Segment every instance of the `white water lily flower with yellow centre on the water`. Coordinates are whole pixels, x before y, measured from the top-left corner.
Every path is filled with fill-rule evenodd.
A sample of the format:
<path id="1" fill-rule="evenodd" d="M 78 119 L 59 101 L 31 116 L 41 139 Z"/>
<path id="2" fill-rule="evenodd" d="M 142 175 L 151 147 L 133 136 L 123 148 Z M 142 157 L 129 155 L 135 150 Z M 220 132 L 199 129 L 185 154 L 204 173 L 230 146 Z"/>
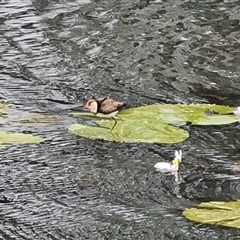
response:
<path id="1" fill-rule="evenodd" d="M 175 151 L 175 158 L 172 160 L 171 163 L 167 162 L 158 162 L 154 165 L 157 171 L 162 173 L 171 172 L 176 173 L 178 171 L 179 164 L 182 161 L 182 151 Z"/>

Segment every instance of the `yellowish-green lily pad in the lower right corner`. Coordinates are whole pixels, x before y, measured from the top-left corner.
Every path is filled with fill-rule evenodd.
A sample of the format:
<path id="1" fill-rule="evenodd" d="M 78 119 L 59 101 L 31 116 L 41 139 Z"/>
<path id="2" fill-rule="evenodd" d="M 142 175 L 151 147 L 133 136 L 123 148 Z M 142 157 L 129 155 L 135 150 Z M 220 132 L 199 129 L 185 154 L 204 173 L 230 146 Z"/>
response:
<path id="1" fill-rule="evenodd" d="M 240 228 L 240 201 L 200 203 L 183 215 L 195 222 Z"/>

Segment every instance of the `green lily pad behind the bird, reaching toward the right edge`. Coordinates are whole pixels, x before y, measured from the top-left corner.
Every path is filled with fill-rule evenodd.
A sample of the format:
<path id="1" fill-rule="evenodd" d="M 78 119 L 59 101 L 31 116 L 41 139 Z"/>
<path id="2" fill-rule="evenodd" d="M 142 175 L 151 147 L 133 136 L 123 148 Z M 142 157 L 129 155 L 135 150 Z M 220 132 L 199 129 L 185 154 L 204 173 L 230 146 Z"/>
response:
<path id="1" fill-rule="evenodd" d="M 218 114 L 206 114 L 213 111 Z M 119 113 L 125 120 L 146 121 L 158 120 L 164 124 L 184 125 L 187 121 L 193 125 L 220 125 L 240 121 L 240 117 L 226 115 L 234 111 L 233 107 L 215 104 L 155 104 L 136 108 L 129 108 Z M 89 112 L 74 114 L 76 117 L 97 119 Z M 98 118 L 99 119 L 99 118 Z"/>

